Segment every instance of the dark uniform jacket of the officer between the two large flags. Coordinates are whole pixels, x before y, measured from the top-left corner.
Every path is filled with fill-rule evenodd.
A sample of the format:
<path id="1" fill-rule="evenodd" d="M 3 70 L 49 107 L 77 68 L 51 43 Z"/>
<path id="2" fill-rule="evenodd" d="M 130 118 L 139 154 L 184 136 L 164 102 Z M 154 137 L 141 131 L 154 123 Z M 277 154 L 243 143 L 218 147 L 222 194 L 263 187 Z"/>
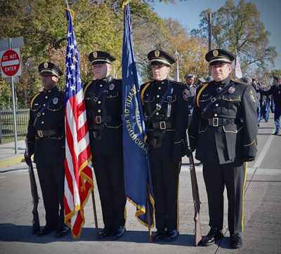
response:
<path id="1" fill-rule="evenodd" d="M 100 90 L 110 86 L 95 102 Z M 87 121 L 93 156 L 108 156 L 122 150 L 122 80 L 96 79 L 84 84 Z M 94 131 L 100 136 L 94 137 Z"/>

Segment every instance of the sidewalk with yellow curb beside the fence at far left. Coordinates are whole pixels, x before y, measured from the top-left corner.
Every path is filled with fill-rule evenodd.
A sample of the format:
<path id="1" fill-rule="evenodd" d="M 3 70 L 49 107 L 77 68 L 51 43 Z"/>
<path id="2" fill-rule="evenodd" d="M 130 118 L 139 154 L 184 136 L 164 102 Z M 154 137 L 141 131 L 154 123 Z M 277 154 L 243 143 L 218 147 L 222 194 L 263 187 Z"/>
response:
<path id="1" fill-rule="evenodd" d="M 15 142 L 0 145 L 0 168 L 11 166 L 24 160 L 25 140 L 17 142 L 18 151 L 15 154 Z"/>

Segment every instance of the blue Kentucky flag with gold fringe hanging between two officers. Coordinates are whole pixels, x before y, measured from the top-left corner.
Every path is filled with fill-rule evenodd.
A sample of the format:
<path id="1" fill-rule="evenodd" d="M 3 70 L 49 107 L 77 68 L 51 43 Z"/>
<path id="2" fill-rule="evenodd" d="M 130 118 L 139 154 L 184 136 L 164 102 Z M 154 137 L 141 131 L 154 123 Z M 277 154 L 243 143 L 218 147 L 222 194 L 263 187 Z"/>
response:
<path id="1" fill-rule="evenodd" d="M 145 226 L 148 226 L 150 222 L 153 227 L 154 195 L 148 146 L 145 143 L 147 136 L 141 108 L 136 62 L 133 56 L 133 31 L 129 1 L 123 4 L 123 10 L 122 89 L 125 192 L 127 199 L 136 206 L 138 221 Z"/>

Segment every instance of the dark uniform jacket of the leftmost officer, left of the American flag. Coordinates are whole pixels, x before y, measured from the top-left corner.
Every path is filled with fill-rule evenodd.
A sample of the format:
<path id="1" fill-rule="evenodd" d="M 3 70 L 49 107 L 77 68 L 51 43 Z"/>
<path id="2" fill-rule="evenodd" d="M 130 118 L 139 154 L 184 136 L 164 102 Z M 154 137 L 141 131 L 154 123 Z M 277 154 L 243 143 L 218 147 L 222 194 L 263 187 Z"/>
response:
<path id="1" fill-rule="evenodd" d="M 51 103 L 41 112 L 46 103 Z M 41 115 L 37 115 L 41 112 Z M 27 144 L 34 162 L 55 166 L 65 160 L 65 92 L 55 86 L 37 93 L 30 103 Z"/>

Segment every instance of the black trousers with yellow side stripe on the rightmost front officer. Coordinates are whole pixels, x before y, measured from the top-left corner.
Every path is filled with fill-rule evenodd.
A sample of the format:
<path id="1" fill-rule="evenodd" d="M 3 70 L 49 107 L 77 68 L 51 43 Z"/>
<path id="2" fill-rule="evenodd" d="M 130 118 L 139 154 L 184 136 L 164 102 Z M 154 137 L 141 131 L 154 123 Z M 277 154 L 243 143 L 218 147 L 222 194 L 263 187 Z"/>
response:
<path id="1" fill-rule="evenodd" d="M 226 186 L 229 231 L 233 234 L 243 232 L 246 163 L 204 163 L 203 176 L 208 196 L 209 226 L 223 229 L 223 191 Z"/>

